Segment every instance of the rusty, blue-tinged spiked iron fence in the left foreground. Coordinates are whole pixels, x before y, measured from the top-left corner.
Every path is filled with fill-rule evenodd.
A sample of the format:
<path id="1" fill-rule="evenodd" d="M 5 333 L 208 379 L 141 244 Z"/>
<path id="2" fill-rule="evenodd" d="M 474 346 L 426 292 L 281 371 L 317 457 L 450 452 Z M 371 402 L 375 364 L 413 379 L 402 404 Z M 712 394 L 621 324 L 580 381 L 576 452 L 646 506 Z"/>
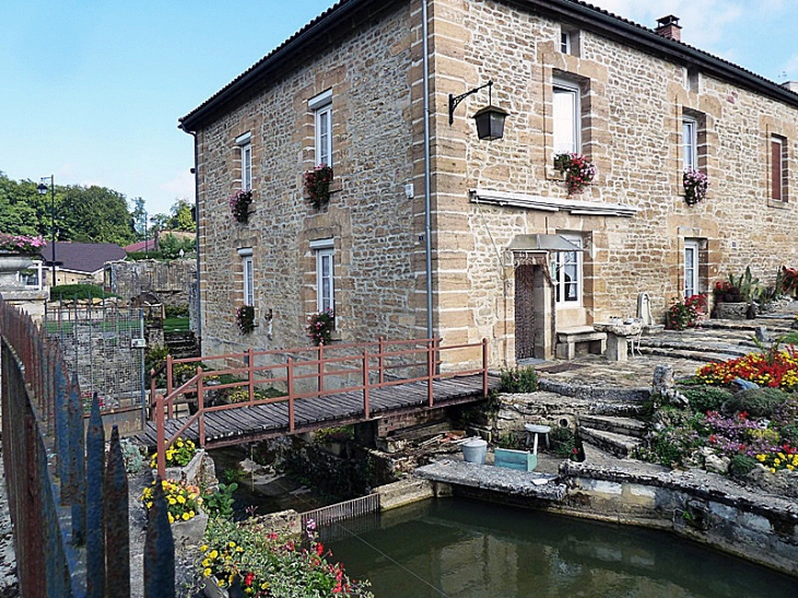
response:
<path id="1" fill-rule="evenodd" d="M 115 427 L 99 404 L 84 436 L 75 375 L 57 340 L 0 300 L 2 454 L 20 590 L 30 597 L 130 596 L 128 485 Z M 144 596 L 173 597 L 174 542 L 156 485 L 144 553 Z"/>

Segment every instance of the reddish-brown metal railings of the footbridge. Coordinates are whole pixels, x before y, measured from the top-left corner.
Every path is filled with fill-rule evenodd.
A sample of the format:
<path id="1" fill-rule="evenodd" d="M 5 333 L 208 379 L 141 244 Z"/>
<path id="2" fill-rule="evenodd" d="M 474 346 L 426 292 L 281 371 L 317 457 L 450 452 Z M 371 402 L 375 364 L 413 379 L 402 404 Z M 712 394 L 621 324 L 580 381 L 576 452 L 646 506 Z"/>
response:
<path id="1" fill-rule="evenodd" d="M 372 342 L 335 345 L 304 347 L 287 350 L 226 353 L 180 360 L 166 359 L 166 395 L 151 389 L 151 413 L 156 422 L 157 469 L 165 474 L 166 449 L 187 430 L 197 425 L 199 445 L 206 444 L 204 415 L 214 411 L 230 411 L 259 404 L 287 403 L 285 427 L 294 432 L 296 427 L 295 403 L 297 400 L 326 397 L 343 392 L 361 392 L 363 397 L 363 419 L 371 419 L 371 392 L 399 384 L 426 383 L 427 406 L 434 407 L 435 380 L 479 374 L 482 377 L 482 395 L 488 396 L 488 340 L 477 343 L 443 345 L 442 339 L 413 339 L 388 341 L 378 339 Z M 460 360 L 463 366 L 441 371 L 442 355 L 445 352 L 469 355 Z M 474 359 L 476 356 L 476 359 Z M 258 361 L 269 360 L 270 363 Z M 455 360 L 451 360 L 453 362 Z M 224 367 L 230 363 L 243 364 Z M 175 366 L 197 364 L 192 376 L 175 387 Z M 223 367 L 212 367 L 213 365 Z M 210 365 L 211 367 L 206 367 Z M 404 375 L 402 375 L 404 371 Z M 234 382 L 209 386 L 209 378 L 238 378 Z M 216 382 L 216 380 L 214 380 Z M 258 386 L 281 388 L 283 395 L 259 398 Z M 226 388 L 246 388 L 246 401 L 232 404 L 206 406 L 204 394 Z M 165 420 L 172 419 L 177 402 L 195 402 L 188 396 L 196 396 L 197 411 L 183 425 L 166 437 Z"/>

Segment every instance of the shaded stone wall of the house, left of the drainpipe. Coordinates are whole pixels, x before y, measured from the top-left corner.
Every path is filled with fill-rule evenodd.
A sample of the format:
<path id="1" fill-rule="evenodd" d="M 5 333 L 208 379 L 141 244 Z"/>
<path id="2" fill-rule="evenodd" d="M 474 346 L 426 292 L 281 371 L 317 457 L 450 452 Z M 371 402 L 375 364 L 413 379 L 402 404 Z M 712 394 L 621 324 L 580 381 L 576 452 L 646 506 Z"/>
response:
<path id="1" fill-rule="evenodd" d="M 294 61 L 262 92 L 199 131 L 204 353 L 307 344 L 306 317 L 317 312 L 310 243 L 325 238 L 333 239 L 338 338 L 416 336 L 416 254 L 423 246 L 414 215 L 423 198 L 408 199 L 404 185 L 413 180 L 416 151 L 411 44 L 418 17 L 399 4 Z M 315 165 L 308 99 L 327 90 L 333 194 L 327 207 L 315 210 L 303 189 L 303 174 Z M 254 201 L 248 223 L 240 224 L 231 218 L 227 196 L 240 187 L 235 139 L 246 132 Z M 259 313 L 248 337 L 234 320 L 244 301 L 242 248 L 253 249 Z"/>

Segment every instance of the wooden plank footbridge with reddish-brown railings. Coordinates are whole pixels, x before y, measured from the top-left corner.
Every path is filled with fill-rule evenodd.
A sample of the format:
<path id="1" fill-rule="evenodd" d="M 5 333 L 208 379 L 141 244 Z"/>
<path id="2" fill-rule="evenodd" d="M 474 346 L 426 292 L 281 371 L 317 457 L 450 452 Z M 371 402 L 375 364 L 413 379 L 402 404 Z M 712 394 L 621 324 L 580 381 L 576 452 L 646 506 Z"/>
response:
<path id="1" fill-rule="evenodd" d="M 446 363 L 463 364 L 442 372 Z M 188 379 L 174 386 L 177 373 Z M 232 382 L 231 382 L 232 380 Z M 443 347 L 441 339 L 319 345 L 166 360 L 166 394 L 153 377 L 151 421 L 133 438 L 159 453 L 178 436 L 206 448 L 479 401 L 498 387 L 488 372 L 488 341 Z M 239 402 L 211 395 L 232 389 Z M 227 396 L 231 394 L 227 392 Z M 275 396 L 277 395 L 277 396 Z M 201 400 L 198 400 L 201 398 Z M 177 417 L 177 407 L 196 406 Z"/>

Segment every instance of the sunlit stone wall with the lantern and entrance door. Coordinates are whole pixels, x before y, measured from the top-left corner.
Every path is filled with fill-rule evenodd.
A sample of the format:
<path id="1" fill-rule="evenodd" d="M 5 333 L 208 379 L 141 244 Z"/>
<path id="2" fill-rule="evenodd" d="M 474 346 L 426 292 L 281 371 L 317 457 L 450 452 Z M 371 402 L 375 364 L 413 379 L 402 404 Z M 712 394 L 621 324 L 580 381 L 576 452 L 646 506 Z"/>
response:
<path id="1" fill-rule="evenodd" d="M 561 23 L 515 4 L 439 0 L 435 35 L 435 220 L 441 268 L 441 332 L 445 339 L 493 339 L 494 363 L 514 359 L 514 280 L 505 249 L 517 234 L 578 233 L 588 249 L 580 309 L 560 324 L 634 315 L 637 293 L 662 318 L 683 289 L 685 239 L 700 239 L 701 290 L 751 266 L 773 283 L 782 263 L 798 262 L 798 109 L 693 72 L 592 32 L 572 33 L 560 51 Z M 567 25 L 566 25 L 567 26 Z M 573 199 L 631 206 L 634 216 L 589 215 L 476 204 L 476 188 L 568 201 L 551 164 L 552 84 L 582 89 L 582 148 L 598 167 Z M 446 118 L 448 93 L 494 81 L 493 103 L 509 112 L 505 137 L 478 141 L 471 115 L 486 92 Z M 683 200 L 681 122 L 697 116 L 699 166 L 707 199 Z M 770 139 L 787 139 L 789 201 L 773 204 Z M 442 225 L 443 224 L 443 225 Z M 465 233 L 465 234 L 463 234 Z M 448 267 L 461 272 L 449 284 Z"/>

